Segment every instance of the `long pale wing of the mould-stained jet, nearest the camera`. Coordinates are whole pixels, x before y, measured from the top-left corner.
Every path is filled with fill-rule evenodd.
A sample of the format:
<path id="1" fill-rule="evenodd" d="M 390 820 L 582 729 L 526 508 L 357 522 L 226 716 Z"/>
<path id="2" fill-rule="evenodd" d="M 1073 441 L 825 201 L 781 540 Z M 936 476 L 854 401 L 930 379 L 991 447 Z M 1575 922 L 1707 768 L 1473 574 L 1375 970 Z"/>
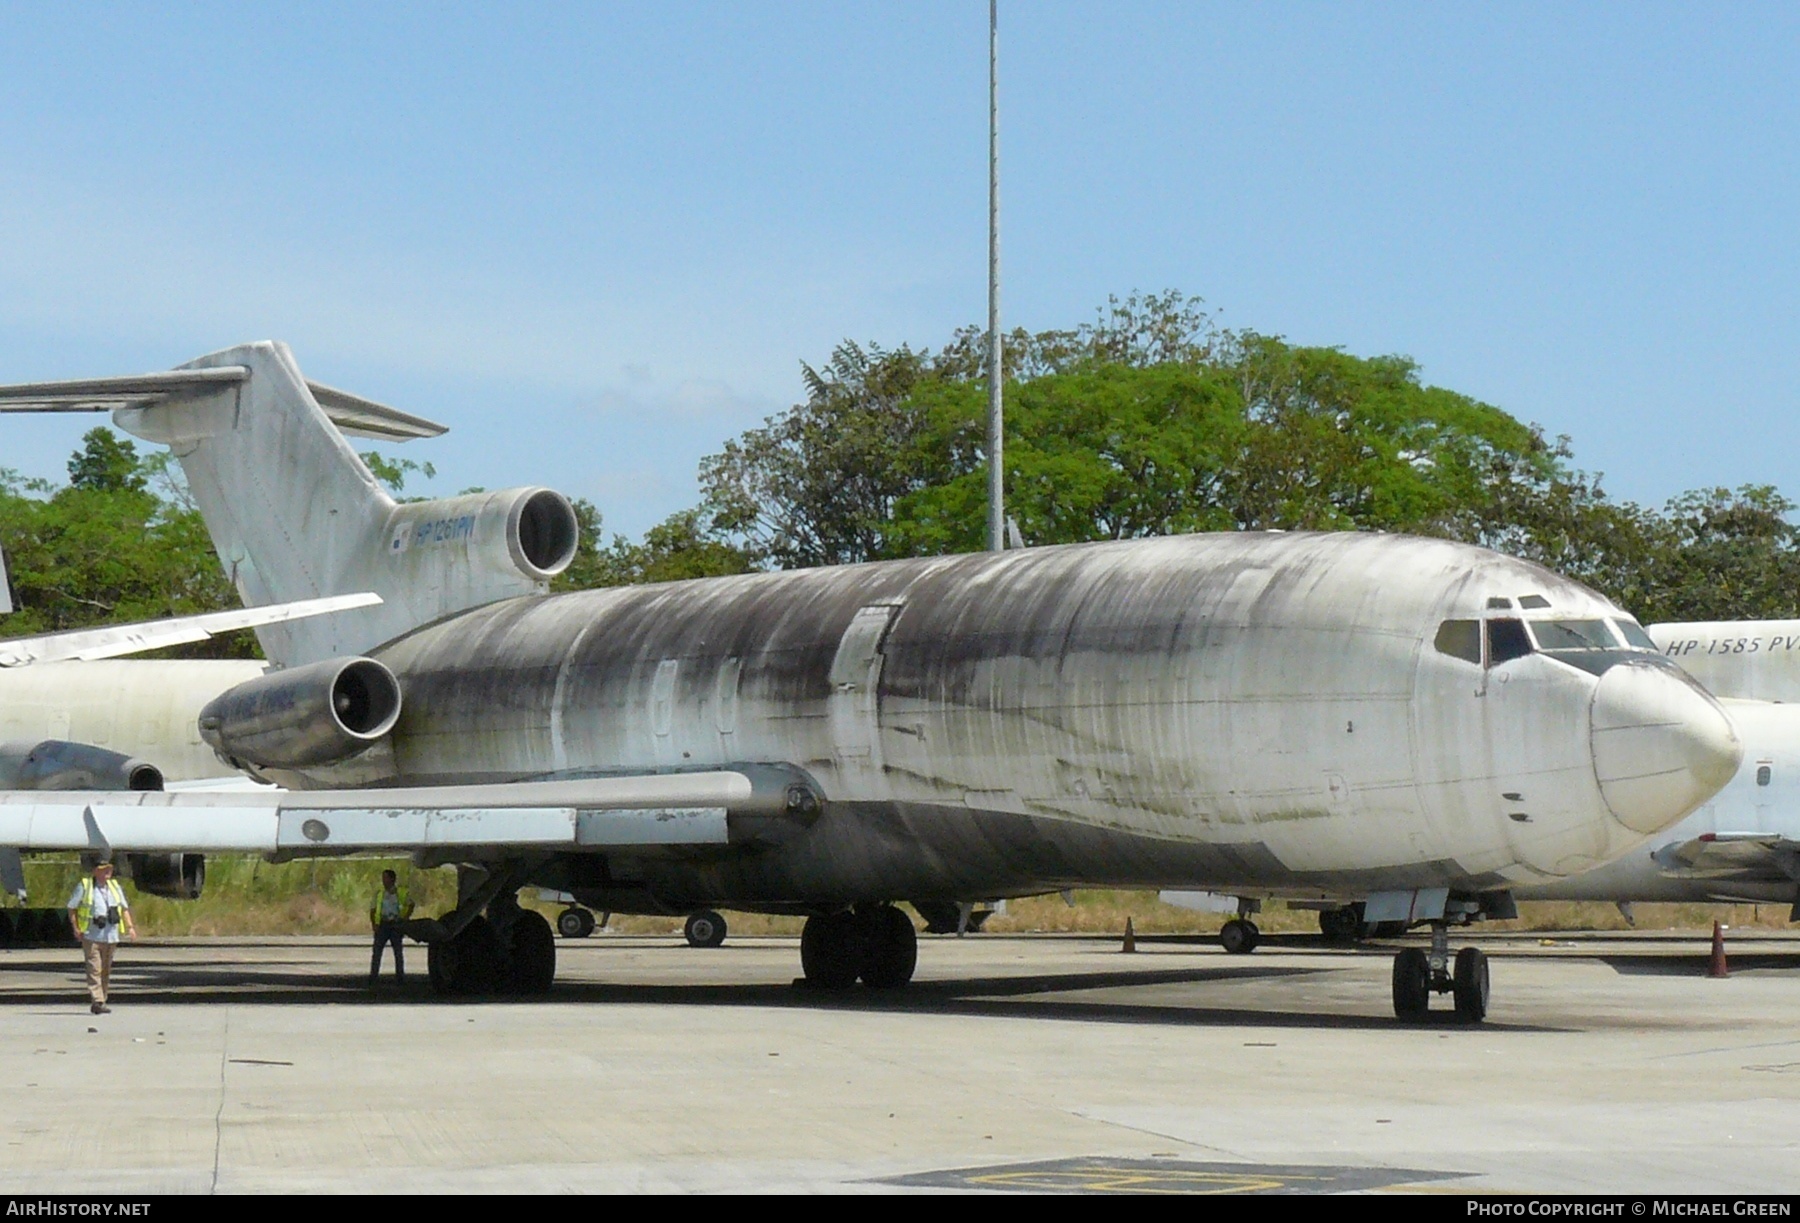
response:
<path id="1" fill-rule="evenodd" d="M 457 847 L 725 845 L 736 771 L 364 791 L 11 791 L 0 845 L 22 850 L 308 857 Z"/>

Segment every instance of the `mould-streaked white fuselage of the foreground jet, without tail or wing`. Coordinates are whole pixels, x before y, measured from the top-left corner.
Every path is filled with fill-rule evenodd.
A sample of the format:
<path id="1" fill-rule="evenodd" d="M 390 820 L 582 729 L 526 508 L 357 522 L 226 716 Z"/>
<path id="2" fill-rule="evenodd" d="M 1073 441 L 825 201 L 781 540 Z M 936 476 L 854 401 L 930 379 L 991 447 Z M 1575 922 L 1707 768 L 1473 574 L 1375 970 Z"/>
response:
<path id="1" fill-rule="evenodd" d="M 740 852 L 551 879 L 617 911 L 1503 890 L 1618 857 L 1739 753 L 1717 702 L 1651 650 L 1483 654 L 1483 623 L 1507 636 L 1521 618 L 1629 621 L 1526 562 L 1348 533 L 506 600 L 371 650 L 405 692 L 374 753 L 272 775 L 437 785 L 783 762 L 815 784 L 815 814 L 734 825 Z"/>

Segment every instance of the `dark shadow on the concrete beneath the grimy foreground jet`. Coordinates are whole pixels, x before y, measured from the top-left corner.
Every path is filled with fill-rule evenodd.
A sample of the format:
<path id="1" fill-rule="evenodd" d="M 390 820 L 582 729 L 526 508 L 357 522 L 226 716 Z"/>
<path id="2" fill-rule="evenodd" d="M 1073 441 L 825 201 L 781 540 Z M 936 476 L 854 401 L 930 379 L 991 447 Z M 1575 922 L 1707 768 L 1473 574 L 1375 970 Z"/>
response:
<path id="1" fill-rule="evenodd" d="M 716 955 L 716 953 L 707 953 Z M 423 969 L 423 955 L 419 956 Z M 4 965 L 7 974 L 36 976 L 29 992 L 14 994 L 18 1003 L 77 1001 L 81 992 L 81 965 L 74 958 L 38 960 Z M 720 964 L 724 969 L 725 965 Z M 371 991 L 362 974 L 320 971 L 317 958 L 284 956 L 281 962 L 252 964 L 194 964 L 191 960 L 158 958 L 153 949 L 121 955 L 113 969 L 117 1001 L 121 1005 L 662 1005 L 662 1007 L 803 1007 L 815 1010 L 857 1010 L 886 1014 L 950 1014 L 985 1018 L 1033 1018 L 1046 1021 L 1127 1023 L 1127 1025 L 1183 1025 L 1183 1027 L 1273 1027 L 1273 1028 L 1372 1028 L 1391 1030 L 1395 1019 L 1382 1012 L 1354 1014 L 1328 1010 L 1280 1010 L 1273 1007 L 1210 1005 L 1206 991 L 1190 998 L 1168 1000 L 1166 991 L 1157 1000 L 1132 1001 L 1118 991 L 1168 985 L 1244 985 L 1258 982 L 1294 982 L 1330 976 L 1330 967 L 1292 967 L 1231 962 L 1179 969 L 1091 969 L 1076 973 L 1039 973 L 1021 976 L 967 976 L 954 980 L 914 980 L 900 991 L 871 991 L 853 987 L 826 991 L 792 983 L 614 983 L 592 980 L 562 980 L 542 998 L 454 998 L 439 1000 L 430 992 L 423 971 L 409 973 L 403 983 L 391 974 Z M 67 1000 L 50 996 L 43 987 L 50 978 L 68 982 Z M 1080 998 L 1107 991 L 1102 998 Z M 5 1000 L 0 987 L 0 1001 Z M 1384 991 L 1372 996 L 1370 1005 L 1386 1003 Z M 1355 1003 L 1352 1003 L 1355 1005 Z M 1426 1027 L 1444 1030 L 1472 1030 L 1445 1007 L 1431 1012 Z M 1494 1023 L 1483 1030 L 1552 1032 L 1559 1027 Z"/>

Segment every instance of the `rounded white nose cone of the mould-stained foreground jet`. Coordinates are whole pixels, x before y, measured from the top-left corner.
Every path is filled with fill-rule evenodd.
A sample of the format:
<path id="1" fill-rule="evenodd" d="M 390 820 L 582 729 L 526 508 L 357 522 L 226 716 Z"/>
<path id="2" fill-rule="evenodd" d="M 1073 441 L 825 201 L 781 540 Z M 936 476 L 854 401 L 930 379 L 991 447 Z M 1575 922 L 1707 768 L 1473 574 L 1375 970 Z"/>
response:
<path id="1" fill-rule="evenodd" d="M 1744 746 L 1719 702 L 1685 675 L 1622 665 L 1593 692 L 1593 775 L 1620 823 L 1660 832 L 1737 773 Z"/>

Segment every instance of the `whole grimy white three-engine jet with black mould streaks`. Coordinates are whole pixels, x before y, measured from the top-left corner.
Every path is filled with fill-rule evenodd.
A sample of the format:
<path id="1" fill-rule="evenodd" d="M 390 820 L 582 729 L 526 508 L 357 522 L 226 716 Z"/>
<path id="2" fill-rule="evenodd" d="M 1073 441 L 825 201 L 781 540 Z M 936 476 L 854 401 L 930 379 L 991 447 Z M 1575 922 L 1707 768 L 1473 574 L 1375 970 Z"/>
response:
<path id="1" fill-rule="evenodd" d="M 0 843 L 455 863 L 427 931 L 445 991 L 549 989 L 524 884 L 805 915 L 821 987 L 913 976 L 896 901 L 1251 884 L 1429 924 L 1397 1012 L 1451 992 L 1480 1019 L 1487 962 L 1451 956 L 1451 924 L 1737 769 L 1717 701 L 1624 611 L 1480 548 L 1188 535 L 545 596 L 576 544 L 562 497 L 396 504 L 333 403 L 428 427 L 279 344 L 0 387 L 171 445 L 247 603 L 385 600 L 259 630 L 284 670 L 202 713 L 292 793 L 0 796 Z"/>

